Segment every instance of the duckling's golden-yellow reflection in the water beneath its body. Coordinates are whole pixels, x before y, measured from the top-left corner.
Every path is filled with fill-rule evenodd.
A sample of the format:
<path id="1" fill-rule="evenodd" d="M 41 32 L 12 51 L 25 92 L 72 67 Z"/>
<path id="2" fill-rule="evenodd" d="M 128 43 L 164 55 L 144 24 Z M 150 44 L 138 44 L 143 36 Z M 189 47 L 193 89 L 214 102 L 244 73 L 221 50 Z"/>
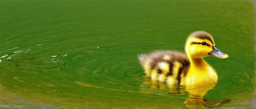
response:
<path id="1" fill-rule="evenodd" d="M 146 80 L 141 86 L 150 88 L 154 91 L 159 91 L 167 94 L 184 94 L 185 92 L 189 93 L 189 98 L 185 100 L 186 107 L 188 108 L 198 108 L 198 107 L 217 107 L 223 104 L 228 104 L 230 99 L 220 99 L 220 100 L 206 100 L 204 95 L 207 91 L 215 88 L 216 84 L 202 86 L 195 88 L 194 86 L 181 86 L 181 85 L 166 85 L 162 82 Z M 148 90 L 143 89 L 142 90 Z"/>

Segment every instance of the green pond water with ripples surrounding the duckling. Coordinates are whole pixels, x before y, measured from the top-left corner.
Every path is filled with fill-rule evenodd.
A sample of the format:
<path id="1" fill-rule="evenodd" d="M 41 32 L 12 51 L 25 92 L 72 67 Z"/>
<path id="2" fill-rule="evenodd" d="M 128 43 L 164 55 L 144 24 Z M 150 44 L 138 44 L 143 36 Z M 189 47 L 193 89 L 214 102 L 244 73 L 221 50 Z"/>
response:
<path id="1" fill-rule="evenodd" d="M 0 1 L 0 106 L 186 108 L 189 93 L 148 85 L 137 54 L 183 51 L 204 30 L 227 59 L 205 99 L 253 107 L 252 1 Z"/>

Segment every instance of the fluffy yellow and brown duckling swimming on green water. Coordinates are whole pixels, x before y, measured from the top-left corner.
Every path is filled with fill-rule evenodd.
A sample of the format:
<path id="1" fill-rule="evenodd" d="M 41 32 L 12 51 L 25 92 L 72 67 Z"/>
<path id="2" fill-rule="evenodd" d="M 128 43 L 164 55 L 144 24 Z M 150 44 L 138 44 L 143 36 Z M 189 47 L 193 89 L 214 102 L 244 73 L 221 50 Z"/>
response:
<path id="1" fill-rule="evenodd" d="M 185 53 L 155 51 L 138 55 L 146 78 L 170 85 L 206 86 L 215 84 L 218 75 L 203 58 L 214 56 L 228 58 L 218 50 L 212 36 L 205 31 L 191 33 L 185 43 Z"/>

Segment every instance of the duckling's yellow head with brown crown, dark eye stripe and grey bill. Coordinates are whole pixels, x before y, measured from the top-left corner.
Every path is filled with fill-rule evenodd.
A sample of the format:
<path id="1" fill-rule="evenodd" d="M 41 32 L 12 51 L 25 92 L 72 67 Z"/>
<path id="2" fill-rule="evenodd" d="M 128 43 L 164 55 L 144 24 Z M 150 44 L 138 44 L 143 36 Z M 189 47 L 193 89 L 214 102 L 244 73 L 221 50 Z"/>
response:
<path id="1" fill-rule="evenodd" d="M 196 31 L 188 36 L 185 52 L 190 58 L 203 58 L 206 56 L 228 58 L 227 54 L 216 48 L 214 39 L 205 31 Z"/>

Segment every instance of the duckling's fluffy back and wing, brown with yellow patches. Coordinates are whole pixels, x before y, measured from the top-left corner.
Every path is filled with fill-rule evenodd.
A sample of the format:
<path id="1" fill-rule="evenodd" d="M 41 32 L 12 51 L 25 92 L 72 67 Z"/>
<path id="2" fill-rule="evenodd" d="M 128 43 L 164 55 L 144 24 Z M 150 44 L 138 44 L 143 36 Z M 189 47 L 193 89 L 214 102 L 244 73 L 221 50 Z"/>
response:
<path id="1" fill-rule="evenodd" d="M 167 84 L 180 84 L 190 64 L 187 56 L 178 51 L 156 51 L 138 58 L 147 78 Z"/>

